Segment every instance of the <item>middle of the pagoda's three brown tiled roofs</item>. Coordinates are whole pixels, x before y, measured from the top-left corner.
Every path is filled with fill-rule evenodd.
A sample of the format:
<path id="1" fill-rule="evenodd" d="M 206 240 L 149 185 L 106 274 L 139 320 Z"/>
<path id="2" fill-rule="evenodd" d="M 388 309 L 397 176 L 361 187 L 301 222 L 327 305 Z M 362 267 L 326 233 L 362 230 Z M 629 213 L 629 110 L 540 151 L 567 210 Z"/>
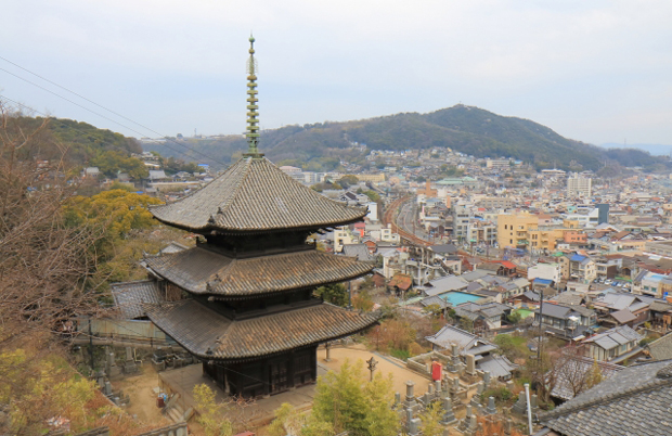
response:
<path id="1" fill-rule="evenodd" d="M 195 247 L 150 257 L 157 275 L 194 294 L 249 297 L 351 280 L 371 272 L 373 265 L 354 258 L 307 249 L 235 258 Z"/>

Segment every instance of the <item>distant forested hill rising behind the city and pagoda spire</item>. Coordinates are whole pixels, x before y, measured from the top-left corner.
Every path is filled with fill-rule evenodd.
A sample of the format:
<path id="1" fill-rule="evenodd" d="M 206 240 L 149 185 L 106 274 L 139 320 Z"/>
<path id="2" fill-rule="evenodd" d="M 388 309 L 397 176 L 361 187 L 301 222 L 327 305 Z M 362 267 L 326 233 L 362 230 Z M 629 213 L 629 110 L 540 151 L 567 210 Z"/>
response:
<path id="1" fill-rule="evenodd" d="M 243 128 L 243 126 L 241 126 Z M 241 136 L 218 140 L 186 140 L 205 154 L 230 162 L 245 149 Z M 656 159 L 638 150 L 605 150 L 561 137 L 534 121 L 505 117 L 478 107 L 455 105 L 429 114 L 404 113 L 344 123 L 318 123 L 287 126 L 262 132 L 261 150 L 279 163 L 324 168 L 337 165 L 339 157 L 363 159 L 352 143 L 370 150 L 409 150 L 431 146 L 451 148 L 477 157 L 512 156 L 538 168 L 569 168 L 572 161 L 586 169 L 605 162 L 621 165 L 652 165 Z M 163 155 L 169 150 L 152 146 Z M 326 168 L 325 168 L 326 167 Z"/>

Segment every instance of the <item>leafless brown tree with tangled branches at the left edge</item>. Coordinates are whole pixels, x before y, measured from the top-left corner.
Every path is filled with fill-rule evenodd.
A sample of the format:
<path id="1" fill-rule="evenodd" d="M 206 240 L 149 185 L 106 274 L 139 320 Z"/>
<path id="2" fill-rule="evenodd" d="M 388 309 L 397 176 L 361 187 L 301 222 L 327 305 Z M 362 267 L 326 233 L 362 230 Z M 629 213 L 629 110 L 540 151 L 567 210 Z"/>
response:
<path id="1" fill-rule="evenodd" d="M 77 187 L 67 149 L 46 132 L 49 119 L 24 119 L 0 105 L 0 351 L 68 333 L 74 316 L 98 310 L 85 278 L 104 229 L 66 226 L 63 205 Z"/>

